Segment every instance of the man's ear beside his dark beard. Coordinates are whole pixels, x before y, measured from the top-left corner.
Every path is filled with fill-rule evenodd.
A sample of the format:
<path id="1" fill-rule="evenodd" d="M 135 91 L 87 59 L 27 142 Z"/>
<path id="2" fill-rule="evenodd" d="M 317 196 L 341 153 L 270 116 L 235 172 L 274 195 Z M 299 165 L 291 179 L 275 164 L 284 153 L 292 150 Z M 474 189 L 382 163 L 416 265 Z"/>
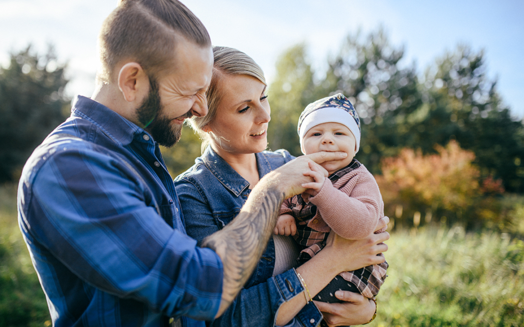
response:
<path id="1" fill-rule="evenodd" d="M 149 92 L 149 78 L 136 62 L 128 62 L 118 72 L 118 88 L 127 102 L 141 101 Z"/>

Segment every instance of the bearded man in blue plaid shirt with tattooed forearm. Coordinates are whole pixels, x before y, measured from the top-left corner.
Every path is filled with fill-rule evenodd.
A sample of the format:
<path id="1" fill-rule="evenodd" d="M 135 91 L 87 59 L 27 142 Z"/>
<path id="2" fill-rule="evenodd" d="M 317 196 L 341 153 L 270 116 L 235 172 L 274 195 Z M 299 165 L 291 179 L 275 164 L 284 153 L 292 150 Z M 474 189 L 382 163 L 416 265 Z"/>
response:
<path id="1" fill-rule="evenodd" d="M 173 145 L 185 118 L 207 113 L 208 32 L 177 0 L 129 0 L 104 21 L 99 43 L 92 99 L 75 99 L 18 189 L 20 229 L 53 325 L 158 326 L 169 317 L 202 325 L 187 317 L 212 320 L 233 301 L 281 201 L 308 181 L 297 173 L 308 160 L 268 174 L 235 222 L 196 247 L 158 143 Z"/>

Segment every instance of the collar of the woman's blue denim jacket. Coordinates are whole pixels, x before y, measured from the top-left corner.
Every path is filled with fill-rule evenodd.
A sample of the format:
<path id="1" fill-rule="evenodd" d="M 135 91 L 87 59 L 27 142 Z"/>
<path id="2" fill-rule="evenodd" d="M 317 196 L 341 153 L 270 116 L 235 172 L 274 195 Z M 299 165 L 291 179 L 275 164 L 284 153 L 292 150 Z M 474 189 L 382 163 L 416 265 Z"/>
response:
<path id="1" fill-rule="evenodd" d="M 262 178 L 271 171 L 270 165 L 267 164 L 267 159 L 263 152 L 255 153 L 257 159 L 258 176 Z M 218 155 L 211 146 L 205 149 L 202 156 L 199 158 L 202 163 L 209 169 L 209 171 L 230 190 L 235 196 L 240 196 L 246 188 L 249 187 L 244 177 L 238 174 L 230 164 L 228 164 L 220 155 Z M 262 164 L 264 163 L 264 164 Z"/>

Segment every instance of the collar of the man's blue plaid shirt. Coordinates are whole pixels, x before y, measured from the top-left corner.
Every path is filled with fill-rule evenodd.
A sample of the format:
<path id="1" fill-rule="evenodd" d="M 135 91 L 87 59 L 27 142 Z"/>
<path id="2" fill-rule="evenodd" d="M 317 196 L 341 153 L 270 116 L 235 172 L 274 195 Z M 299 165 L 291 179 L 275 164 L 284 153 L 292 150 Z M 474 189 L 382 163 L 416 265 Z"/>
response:
<path id="1" fill-rule="evenodd" d="M 104 134 L 123 146 L 131 143 L 135 136 L 147 133 L 110 108 L 81 95 L 77 95 L 74 99 L 71 117 L 81 117 L 91 121 Z"/>

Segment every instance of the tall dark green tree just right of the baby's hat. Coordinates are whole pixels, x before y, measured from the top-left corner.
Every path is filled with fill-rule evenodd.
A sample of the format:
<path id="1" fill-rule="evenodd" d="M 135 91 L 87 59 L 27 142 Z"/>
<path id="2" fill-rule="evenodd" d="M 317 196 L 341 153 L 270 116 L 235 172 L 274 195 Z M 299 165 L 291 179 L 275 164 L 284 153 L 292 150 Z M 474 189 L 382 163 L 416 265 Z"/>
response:
<path id="1" fill-rule="evenodd" d="M 357 110 L 362 125 L 357 158 L 374 173 L 381 157 L 397 154 L 406 143 L 407 119 L 421 105 L 415 65 L 401 65 L 403 52 L 391 46 L 382 28 L 348 35 L 320 83 L 326 95 L 342 92 Z"/>

